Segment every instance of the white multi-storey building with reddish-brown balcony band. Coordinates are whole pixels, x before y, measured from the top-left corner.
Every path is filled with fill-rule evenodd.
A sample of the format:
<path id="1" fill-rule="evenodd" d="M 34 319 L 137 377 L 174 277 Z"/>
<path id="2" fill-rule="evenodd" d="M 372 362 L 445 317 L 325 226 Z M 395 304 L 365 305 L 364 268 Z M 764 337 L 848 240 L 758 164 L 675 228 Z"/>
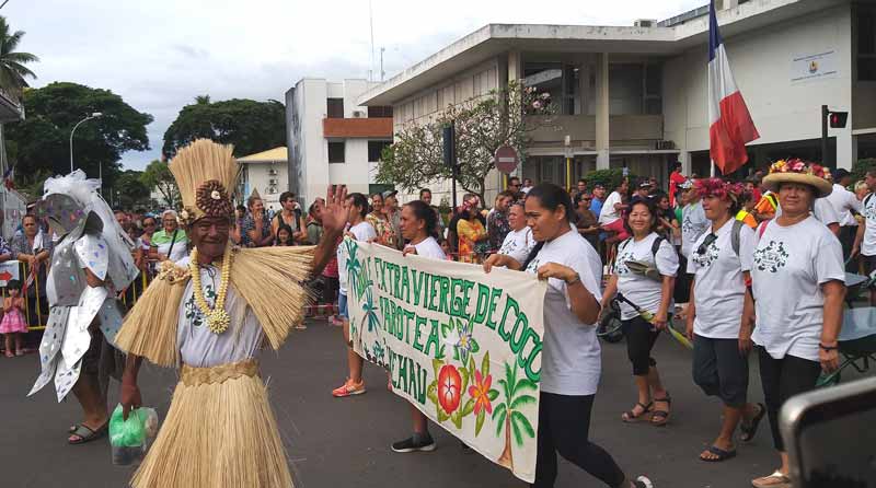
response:
<path id="1" fill-rule="evenodd" d="M 325 196 L 330 184 L 364 194 L 383 189 L 374 175 L 381 151 L 392 143 L 392 108 L 357 102 L 377 85 L 304 78 L 286 92 L 288 185 L 302 205 Z"/>

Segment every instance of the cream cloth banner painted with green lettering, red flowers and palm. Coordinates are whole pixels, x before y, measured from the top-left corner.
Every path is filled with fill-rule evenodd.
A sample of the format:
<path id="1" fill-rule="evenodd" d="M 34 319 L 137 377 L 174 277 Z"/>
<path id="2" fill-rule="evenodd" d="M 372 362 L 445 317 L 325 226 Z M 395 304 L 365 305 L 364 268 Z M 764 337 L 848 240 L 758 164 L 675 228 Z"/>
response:
<path id="1" fill-rule="evenodd" d="M 535 478 L 546 283 L 345 239 L 354 350 L 472 449 Z"/>

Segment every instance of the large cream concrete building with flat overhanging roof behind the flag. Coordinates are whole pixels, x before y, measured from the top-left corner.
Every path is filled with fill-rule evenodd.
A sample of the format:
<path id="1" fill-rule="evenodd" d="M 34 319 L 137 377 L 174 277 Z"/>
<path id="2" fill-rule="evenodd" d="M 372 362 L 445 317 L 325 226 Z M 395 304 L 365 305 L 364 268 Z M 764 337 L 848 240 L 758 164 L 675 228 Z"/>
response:
<path id="1" fill-rule="evenodd" d="M 754 165 L 797 155 L 850 167 L 876 156 L 876 10 L 852 0 L 718 0 L 730 66 L 761 139 Z M 486 25 L 361 97 L 393 107 L 393 127 L 429 120 L 448 104 L 522 80 L 558 104 L 531 133 L 517 174 L 566 182 L 623 167 L 664 182 L 669 164 L 710 173 L 708 7 L 632 26 Z M 820 154 L 821 105 L 850 112 Z M 569 144 L 565 141 L 568 138 Z M 748 166 L 747 166 L 748 167 Z M 500 186 L 491 177 L 492 189 Z M 487 199 L 491 197 L 487 196 Z"/>

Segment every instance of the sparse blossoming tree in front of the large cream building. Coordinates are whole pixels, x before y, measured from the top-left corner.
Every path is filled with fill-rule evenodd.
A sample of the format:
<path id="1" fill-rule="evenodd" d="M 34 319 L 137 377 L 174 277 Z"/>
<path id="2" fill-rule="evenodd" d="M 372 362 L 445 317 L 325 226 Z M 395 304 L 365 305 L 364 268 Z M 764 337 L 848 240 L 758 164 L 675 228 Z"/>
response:
<path id="1" fill-rule="evenodd" d="M 473 97 L 449 105 L 430 124 L 410 125 L 394 136 L 378 163 L 378 183 L 394 184 L 406 191 L 450 178 L 443 163 L 442 129 L 451 121 L 456 128 L 458 181 L 466 191 L 484 201 L 486 177 L 494 167 L 494 154 L 502 146 L 511 146 L 521 163 L 530 143 L 529 133 L 551 124 L 554 112 L 550 95 L 511 82 L 488 96 Z M 535 117 L 533 117 L 535 115 Z"/>

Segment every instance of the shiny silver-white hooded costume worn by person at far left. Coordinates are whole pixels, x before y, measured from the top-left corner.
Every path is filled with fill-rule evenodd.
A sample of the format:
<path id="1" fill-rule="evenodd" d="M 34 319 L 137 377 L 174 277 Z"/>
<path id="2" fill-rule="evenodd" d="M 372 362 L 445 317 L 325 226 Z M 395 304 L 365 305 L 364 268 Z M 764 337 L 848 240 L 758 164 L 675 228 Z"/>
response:
<path id="1" fill-rule="evenodd" d="M 94 318 L 111 345 L 122 327 L 116 290 L 130 284 L 139 271 L 131 257 L 134 243 L 97 187 L 100 183 L 87 179 L 80 170 L 45 183 L 41 211 L 61 240 L 53 252 L 46 282 L 50 309 L 39 345 L 43 371 L 28 396 L 54 377 L 58 402 L 62 400 L 79 380 Z M 84 269 L 105 284 L 90 287 Z"/>

